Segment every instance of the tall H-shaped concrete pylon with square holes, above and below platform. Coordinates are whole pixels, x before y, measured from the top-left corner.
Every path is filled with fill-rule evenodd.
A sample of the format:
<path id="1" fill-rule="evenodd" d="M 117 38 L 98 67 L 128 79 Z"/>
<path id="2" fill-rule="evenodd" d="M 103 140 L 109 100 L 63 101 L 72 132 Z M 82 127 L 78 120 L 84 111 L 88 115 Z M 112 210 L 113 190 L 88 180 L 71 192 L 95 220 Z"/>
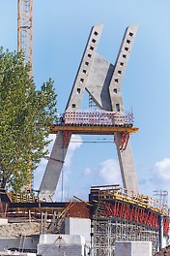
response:
<path id="1" fill-rule="evenodd" d="M 127 28 L 115 65 L 103 59 L 97 53 L 102 27 L 103 24 L 101 23 L 94 26 L 91 30 L 65 112 L 79 110 L 84 91 L 86 90 L 100 109 L 124 114 L 121 83 L 138 25 L 132 25 Z M 128 190 L 138 192 L 130 143 L 128 141 L 126 150 L 121 152 L 120 133 L 115 133 L 115 138 L 123 185 Z M 58 132 L 42 178 L 40 199 L 51 201 L 70 141 L 71 132 L 69 134 L 61 131 Z"/>

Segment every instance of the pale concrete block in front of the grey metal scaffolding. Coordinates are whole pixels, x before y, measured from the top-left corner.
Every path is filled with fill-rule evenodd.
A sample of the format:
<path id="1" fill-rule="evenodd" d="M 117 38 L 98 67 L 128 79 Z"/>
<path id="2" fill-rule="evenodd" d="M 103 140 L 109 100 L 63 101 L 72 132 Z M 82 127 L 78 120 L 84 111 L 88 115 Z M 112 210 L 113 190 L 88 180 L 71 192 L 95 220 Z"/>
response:
<path id="1" fill-rule="evenodd" d="M 117 241 L 115 256 L 152 256 L 151 241 Z"/>

